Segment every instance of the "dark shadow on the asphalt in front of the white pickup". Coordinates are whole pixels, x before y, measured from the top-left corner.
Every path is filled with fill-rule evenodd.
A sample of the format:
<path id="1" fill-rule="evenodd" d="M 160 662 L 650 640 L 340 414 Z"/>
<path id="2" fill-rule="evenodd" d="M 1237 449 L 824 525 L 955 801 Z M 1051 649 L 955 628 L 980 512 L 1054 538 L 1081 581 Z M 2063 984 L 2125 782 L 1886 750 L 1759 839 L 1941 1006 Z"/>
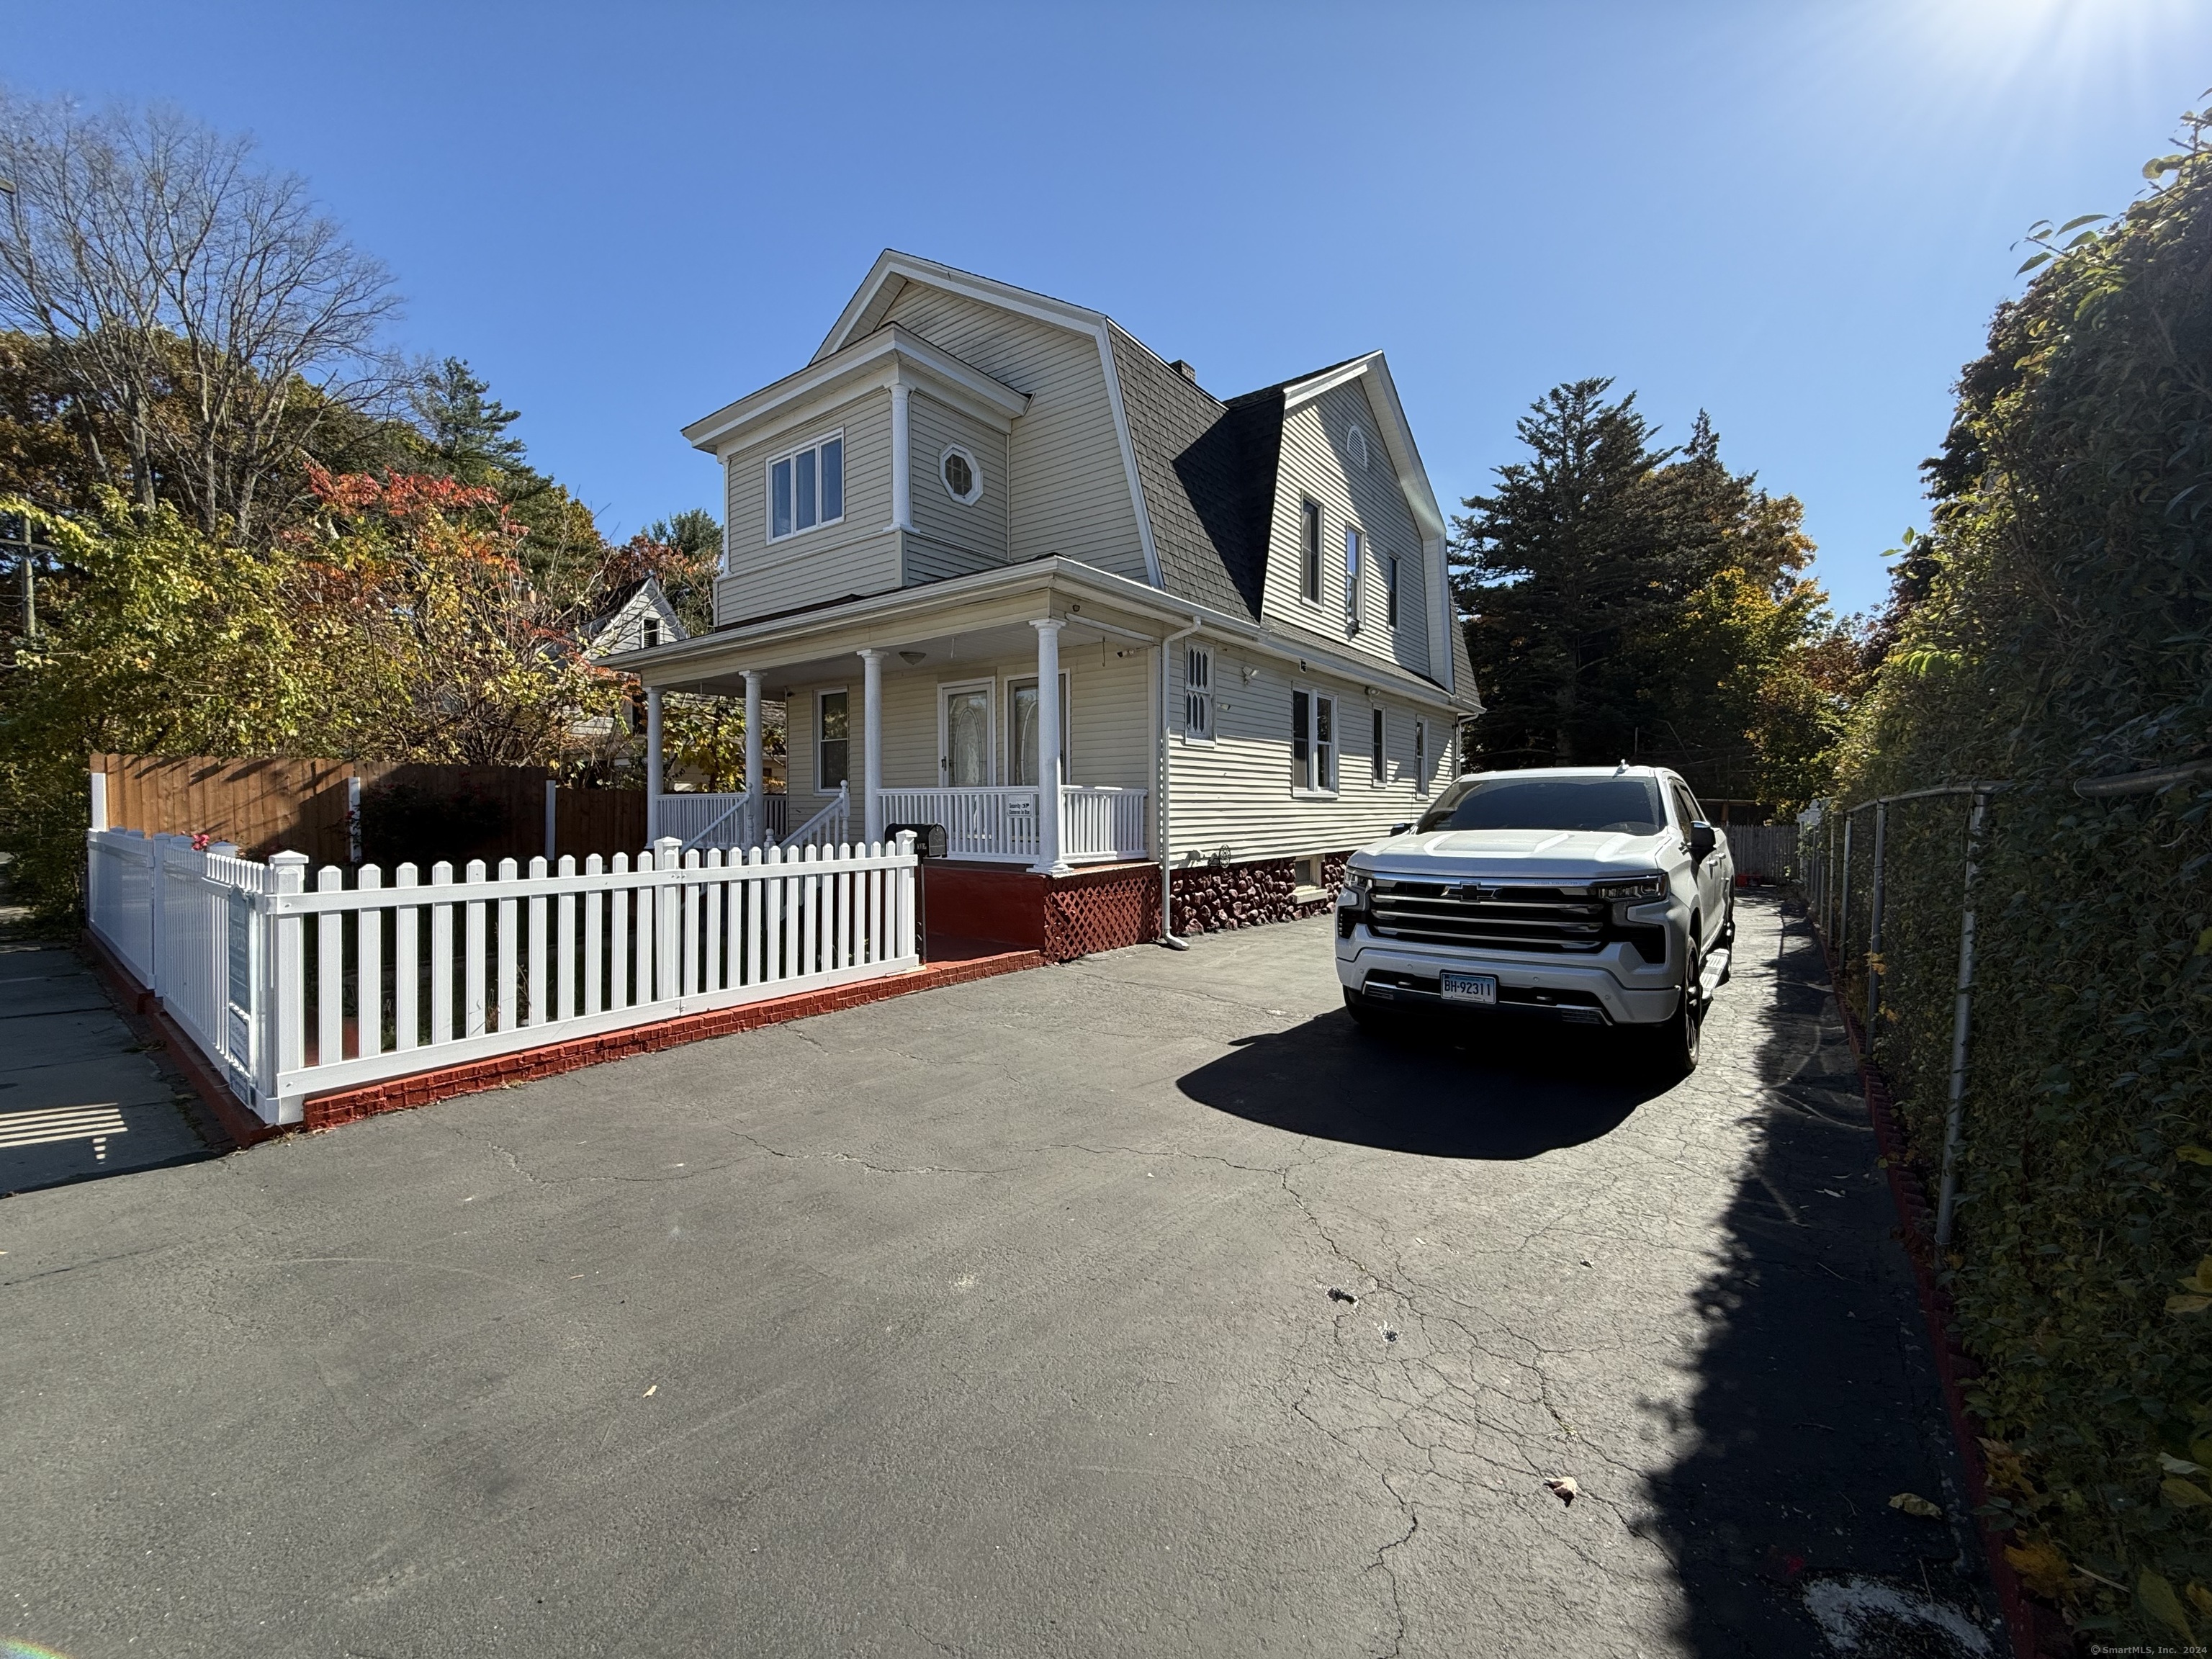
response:
<path id="1" fill-rule="evenodd" d="M 1371 1035 L 1336 1011 L 1243 1037 L 1177 1086 L 1201 1106 L 1292 1135 L 1427 1157 L 1526 1159 L 1595 1141 L 1652 1095 L 1610 1033 L 1520 1020 Z"/>

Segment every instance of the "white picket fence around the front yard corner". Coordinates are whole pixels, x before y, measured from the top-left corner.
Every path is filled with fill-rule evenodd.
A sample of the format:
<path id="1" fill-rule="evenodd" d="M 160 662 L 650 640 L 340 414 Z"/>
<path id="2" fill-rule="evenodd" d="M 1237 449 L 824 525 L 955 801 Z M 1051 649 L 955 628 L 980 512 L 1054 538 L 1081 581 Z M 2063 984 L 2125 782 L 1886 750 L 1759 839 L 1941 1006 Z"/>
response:
<path id="1" fill-rule="evenodd" d="M 400 865 L 352 887 L 184 836 L 88 832 L 86 916 L 268 1124 L 303 1099 L 580 1035 L 905 973 L 911 836 L 896 847 L 597 854 L 460 880 Z"/>

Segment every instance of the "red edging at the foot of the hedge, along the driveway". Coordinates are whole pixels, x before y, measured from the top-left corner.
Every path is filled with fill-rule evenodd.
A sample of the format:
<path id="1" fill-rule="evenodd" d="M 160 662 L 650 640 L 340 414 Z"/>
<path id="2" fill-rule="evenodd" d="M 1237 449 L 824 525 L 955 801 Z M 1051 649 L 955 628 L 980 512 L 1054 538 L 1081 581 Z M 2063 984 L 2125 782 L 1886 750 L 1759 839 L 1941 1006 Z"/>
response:
<path id="1" fill-rule="evenodd" d="M 1818 938 L 1818 931 L 1814 933 Z M 1936 1376 L 1942 1383 L 1944 1407 L 1951 1413 L 1951 1433 L 1958 1440 L 1960 1462 L 1966 1467 L 1966 1498 L 1980 1511 L 1989 1502 L 1989 1480 L 1982 1455 L 1982 1420 L 1966 1407 L 1966 1383 L 1982 1374 L 1973 1356 L 1960 1347 L 1955 1325 L 1958 1310 L 1938 1276 L 1936 1254 L 1936 1208 L 1927 1188 L 1905 1157 L 1905 1128 L 1898 1124 L 1896 1097 L 1889 1079 L 1874 1064 L 1867 1033 L 1843 998 L 1843 967 L 1820 940 L 1820 956 L 1829 969 L 1829 984 L 1836 987 L 1836 1011 L 1843 1015 L 1845 1035 L 1851 1040 L 1851 1055 L 1858 1060 L 1858 1079 L 1867 1091 L 1867 1113 L 1874 1117 L 1874 1139 L 1882 1148 L 1882 1172 L 1889 1177 L 1889 1197 L 1898 1206 L 1898 1237 L 1905 1254 L 1913 1263 L 1913 1285 L 1920 1292 L 1920 1318 L 1927 1323 L 1929 1352 L 1936 1356 Z M 2077 1652 L 2073 1630 L 2055 1608 L 2028 1597 L 2020 1573 L 2004 1559 L 2004 1537 L 1975 1515 L 1975 1531 L 1982 1537 L 1982 1555 L 1989 1557 L 1989 1582 L 1997 1590 L 2004 1608 L 2004 1628 L 2013 1637 L 2013 1659 L 2068 1659 Z"/>

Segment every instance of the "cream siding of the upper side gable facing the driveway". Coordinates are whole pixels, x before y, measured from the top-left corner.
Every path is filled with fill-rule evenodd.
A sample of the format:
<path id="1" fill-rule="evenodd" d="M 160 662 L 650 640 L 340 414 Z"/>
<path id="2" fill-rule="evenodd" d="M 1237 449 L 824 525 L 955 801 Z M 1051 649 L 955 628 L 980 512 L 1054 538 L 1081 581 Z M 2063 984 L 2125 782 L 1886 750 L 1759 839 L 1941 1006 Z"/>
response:
<path id="1" fill-rule="evenodd" d="M 1345 447 L 1352 422 L 1367 434 L 1367 467 L 1352 460 Z M 1298 593 L 1298 562 L 1305 531 L 1301 504 L 1321 502 L 1321 604 L 1307 604 Z M 1360 630 L 1345 630 L 1345 526 L 1365 533 L 1360 549 L 1365 595 Z M 1398 628 L 1385 622 L 1385 562 L 1398 557 Z M 1292 409 L 1283 420 L 1283 460 L 1274 491 L 1274 526 L 1267 560 L 1267 588 L 1261 599 L 1265 615 L 1301 628 L 1343 639 L 1352 650 L 1374 653 L 1389 661 L 1431 675 L 1427 560 L 1420 526 L 1405 502 L 1398 473 L 1383 447 L 1383 425 L 1367 403 L 1363 380 L 1347 380 L 1323 392 L 1312 403 Z"/>

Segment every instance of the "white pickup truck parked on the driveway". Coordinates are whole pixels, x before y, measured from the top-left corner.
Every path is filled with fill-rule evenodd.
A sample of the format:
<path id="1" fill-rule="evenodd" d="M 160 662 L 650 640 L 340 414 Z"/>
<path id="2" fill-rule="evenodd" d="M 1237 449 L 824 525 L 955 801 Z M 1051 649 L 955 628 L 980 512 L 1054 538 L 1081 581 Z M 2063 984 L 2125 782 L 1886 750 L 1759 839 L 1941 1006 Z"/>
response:
<path id="1" fill-rule="evenodd" d="M 1674 772 L 1471 772 L 1352 854 L 1336 978 L 1369 1029 L 1460 1011 L 1619 1026 L 1681 1077 L 1728 980 L 1734 887 L 1728 838 Z"/>

